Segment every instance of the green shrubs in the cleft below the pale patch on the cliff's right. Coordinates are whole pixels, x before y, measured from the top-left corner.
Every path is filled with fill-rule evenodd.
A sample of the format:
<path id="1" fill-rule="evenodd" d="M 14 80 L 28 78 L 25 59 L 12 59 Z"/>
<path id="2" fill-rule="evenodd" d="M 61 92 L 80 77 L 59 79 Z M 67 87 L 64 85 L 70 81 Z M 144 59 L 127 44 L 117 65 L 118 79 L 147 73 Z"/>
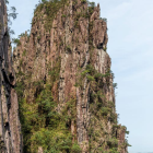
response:
<path id="1" fill-rule="evenodd" d="M 78 79 L 75 86 L 82 86 L 83 80 L 86 76 L 89 82 L 91 82 L 91 91 L 93 91 L 90 95 L 91 113 L 98 118 L 104 116 L 105 118 L 109 119 L 111 122 L 117 122 L 116 121 L 117 116 L 115 113 L 113 113 L 113 109 L 115 108 L 115 104 L 114 102 L 105 102 L 106 99 L 103 94 L 103 89 L 102 89 L 103 86 L 101 85 L 104 84 L 103 78 L 108 80 L 110 75 L 111 75 L 111 71 L 109 69 L 105 74 L 102 74 L 98 71 L 96 71 L 92 64 L 87 64 L 86 69 L 81 72 L 80 79 Z"/>

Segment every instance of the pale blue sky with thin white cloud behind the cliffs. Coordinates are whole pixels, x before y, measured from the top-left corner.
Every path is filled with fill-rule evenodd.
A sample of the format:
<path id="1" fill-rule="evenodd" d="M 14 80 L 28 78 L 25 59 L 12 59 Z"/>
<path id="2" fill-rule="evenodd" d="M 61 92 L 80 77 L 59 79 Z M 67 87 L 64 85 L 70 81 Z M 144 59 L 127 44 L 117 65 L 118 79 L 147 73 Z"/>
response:
<path id="1" fill-rule="evenodd" d="M 10 0 L 15 36 L 31 28 L 38 0 Z M 153 0 L 95 0 L 108 21 L 108 49 L 115 73 L 119 122 L 130 131 L 130 153 L 153 152 Z"/>

